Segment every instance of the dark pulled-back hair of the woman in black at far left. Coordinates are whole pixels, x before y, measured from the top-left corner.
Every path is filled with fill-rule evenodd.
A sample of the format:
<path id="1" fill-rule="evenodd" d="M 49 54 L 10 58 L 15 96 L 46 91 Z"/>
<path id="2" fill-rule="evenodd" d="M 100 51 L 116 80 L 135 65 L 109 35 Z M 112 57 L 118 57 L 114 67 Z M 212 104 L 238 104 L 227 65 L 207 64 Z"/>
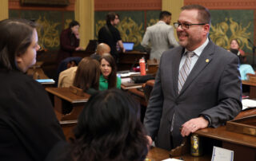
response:
<path id="1" fill-rule="evenodd" d="M 15 57 L 26 52 L 32 42 L 34 22 L 25 19 L 6 19 L 0 22 L 0 68 L 16 69 Z"/>

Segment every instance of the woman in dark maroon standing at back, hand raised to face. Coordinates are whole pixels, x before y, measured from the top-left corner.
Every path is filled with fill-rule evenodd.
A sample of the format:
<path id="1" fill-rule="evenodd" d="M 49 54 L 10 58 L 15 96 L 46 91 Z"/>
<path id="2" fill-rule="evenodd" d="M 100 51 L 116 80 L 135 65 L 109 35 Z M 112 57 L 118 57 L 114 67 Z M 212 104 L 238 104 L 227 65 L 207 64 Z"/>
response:
<path id="1" fill-rule="evenodd" d="M 69 28 L 64 29 L 60 36 L 60 49 L 58 50 L 58 63 L 66 57 L 72 57 L 74 51 L 82 50 L 79 46 L 80 37 L 78 29 L 80 24 L 76 21 L 70 22 Z"/>

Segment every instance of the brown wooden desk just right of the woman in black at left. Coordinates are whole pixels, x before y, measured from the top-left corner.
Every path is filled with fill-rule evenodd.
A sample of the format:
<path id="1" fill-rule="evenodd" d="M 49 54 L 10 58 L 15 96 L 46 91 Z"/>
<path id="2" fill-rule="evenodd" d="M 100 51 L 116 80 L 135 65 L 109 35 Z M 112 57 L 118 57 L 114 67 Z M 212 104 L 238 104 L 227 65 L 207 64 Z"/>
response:
<path id="1" fill-rule="evenodd" d="M 54 102 L 54 111 L 58 120 L 77 120 L 82 108 L 90 98 L 89 94 L 78 96 L 69 88 L 46 88 Z"/>

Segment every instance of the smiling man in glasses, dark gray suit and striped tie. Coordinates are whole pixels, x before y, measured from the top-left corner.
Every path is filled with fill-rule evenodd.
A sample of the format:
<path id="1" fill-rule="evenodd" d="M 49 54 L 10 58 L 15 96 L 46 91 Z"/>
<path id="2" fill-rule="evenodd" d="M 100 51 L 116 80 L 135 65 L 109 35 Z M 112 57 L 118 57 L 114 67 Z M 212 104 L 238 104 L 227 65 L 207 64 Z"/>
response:
<path id="1" fill-rule="evenodd" d="M 209 10 L 183 6 L 174 27 L 180 46 L 162 54 L 144 120 L 149 142 L 167 150 L 198 129 L 225 124 L 242 108 L 238 57 L 208 38 Z"/>

